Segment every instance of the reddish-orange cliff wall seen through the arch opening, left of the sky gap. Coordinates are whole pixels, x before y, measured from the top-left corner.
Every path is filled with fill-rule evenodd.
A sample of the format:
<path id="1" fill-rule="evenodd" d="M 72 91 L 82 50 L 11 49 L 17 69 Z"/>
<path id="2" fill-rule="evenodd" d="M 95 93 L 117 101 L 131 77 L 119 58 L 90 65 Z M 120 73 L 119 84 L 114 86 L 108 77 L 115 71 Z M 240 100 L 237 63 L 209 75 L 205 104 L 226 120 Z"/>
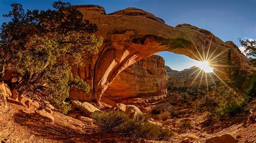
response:
<path id="1" fill-rule="evenodd" d="M 103 94 L 103 102 L 150 102 L 166 95 L 167 73 L 158 55 L 142 59 L 122 71 Z M 151 100 L 149 98 L 152 98 Z"/>

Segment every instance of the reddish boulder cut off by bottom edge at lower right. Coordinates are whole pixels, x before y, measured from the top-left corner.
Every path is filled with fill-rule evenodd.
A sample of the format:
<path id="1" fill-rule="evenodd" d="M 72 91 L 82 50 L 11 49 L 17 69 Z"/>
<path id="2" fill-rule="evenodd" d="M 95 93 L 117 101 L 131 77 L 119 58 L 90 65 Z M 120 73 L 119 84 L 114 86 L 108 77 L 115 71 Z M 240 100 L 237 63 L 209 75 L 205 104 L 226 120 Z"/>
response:
<path id="1" fill-rule="evenodd" d="M 223 134 L 220 137 L 211 137 L 206 139 L 206 143 L 216 143 L 216 142 L 225 142 L 225 143 L 233 143 L 235 142 L 235 138 L 230 134 Z"/>

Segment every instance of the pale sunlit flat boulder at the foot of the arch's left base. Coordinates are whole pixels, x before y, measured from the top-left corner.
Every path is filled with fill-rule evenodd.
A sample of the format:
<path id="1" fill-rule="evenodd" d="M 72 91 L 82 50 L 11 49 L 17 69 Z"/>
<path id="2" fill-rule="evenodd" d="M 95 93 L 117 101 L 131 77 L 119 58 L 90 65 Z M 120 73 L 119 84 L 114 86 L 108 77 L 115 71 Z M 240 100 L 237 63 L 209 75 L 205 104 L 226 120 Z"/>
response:
<path id="1" fill-rule="evenodd" d="M 71 105 L 72 105 L 72 110 L 78 109 L 82 111 L 86 116 L 91 116 L 91 114 L 94 113 L 95 111 L 102 112 L 101 110 L 99 110 L 98 108 L 96 108 L 95 106 L 93 106 L 88 102 L 71 101 Z"/>

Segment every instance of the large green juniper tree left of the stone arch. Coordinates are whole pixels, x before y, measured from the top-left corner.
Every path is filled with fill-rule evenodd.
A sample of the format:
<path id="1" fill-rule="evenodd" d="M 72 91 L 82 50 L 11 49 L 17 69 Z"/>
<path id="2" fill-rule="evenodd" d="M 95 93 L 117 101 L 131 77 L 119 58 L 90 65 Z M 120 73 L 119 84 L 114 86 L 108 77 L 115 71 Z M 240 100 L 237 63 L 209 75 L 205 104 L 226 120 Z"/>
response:
<path id="1" fill-rule="evenodd" d="M 97 26 L 83 19 L 70 3 L 54 2 L 55 10 L 28 10 L 12 4 L 4 17 L 11 21 L 0 28 L 0 78 L 7 70 L 19 79 L 13 86 L 19 95 L 48 99 L 66 113 L 70 105 L 62 105 L 70 88 L 83 92 L 89 85 L 71 73 L 71 66 L 82 66 L 83 55 L 98 53 L 103 38 L 93 33 Z M 85 34 L 87 33 L 87 34 Z"/>

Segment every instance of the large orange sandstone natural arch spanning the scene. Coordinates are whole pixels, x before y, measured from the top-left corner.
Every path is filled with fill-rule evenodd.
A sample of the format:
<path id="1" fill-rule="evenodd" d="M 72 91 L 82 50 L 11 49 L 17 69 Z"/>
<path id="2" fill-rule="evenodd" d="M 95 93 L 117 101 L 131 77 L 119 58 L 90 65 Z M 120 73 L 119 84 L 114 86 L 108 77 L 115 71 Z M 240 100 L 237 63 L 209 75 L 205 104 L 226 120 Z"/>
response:
<path id="1" fill-rule="evenodd" d="M 92 89 L 88 94 L 71 90 L 71 99 L 100 100 L 122 70 L 161 51 L 183 54 L 198 60 L 203 59 L 203 53 L 206 55 L 210 47 L 208 56 L 216 57 L 215 65 L 236 64 L 243 69 L 251 69 L 248 59 L 233 42 L 224 42 L 211 32 L 195 26 L 181 24 L 172 27 L 166 25 L 163 19 L 135 8 L 110 14 L 96 5 L 77 5 L 75 8 L 83 13 L 84 19 L 98 26 L 95 34 L 104 38 L 104 44 L 97 55 L 84 56 L 85 64 L 82 68 L 73 68 L 73 73 L 84 78 Z M 226 78 L 225 73 L 230 73 L 228 68 L 222 66 L 214 69 L 214 73 L 221 78 Z"/>

